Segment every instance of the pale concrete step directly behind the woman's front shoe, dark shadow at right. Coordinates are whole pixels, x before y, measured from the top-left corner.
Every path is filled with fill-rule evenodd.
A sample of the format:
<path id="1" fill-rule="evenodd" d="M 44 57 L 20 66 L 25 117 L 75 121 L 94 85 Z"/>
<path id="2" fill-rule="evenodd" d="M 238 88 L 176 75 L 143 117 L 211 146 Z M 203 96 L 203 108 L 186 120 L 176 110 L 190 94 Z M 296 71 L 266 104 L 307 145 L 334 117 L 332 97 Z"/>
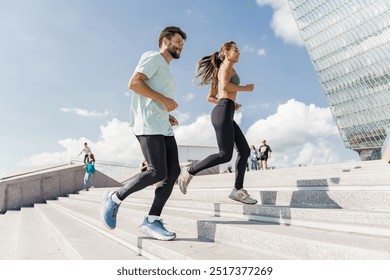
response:
<path id="1" fill-rule="evenodd" d="M 192 182 L 191 182 L 192 183 Z M 329 190 L 329 189 L 295 189 L 295 188 L 255 188 L 248 187 L 246 190 L 256 198 L 259 203 L 265 205 L 288 206 L 295 208 L 343 208 L 364 210 L 390 210 L 390 188 L 357 188 L 355 190 Z M 102 189 L 98 192 L 103 192 Z M 174 187 L 170 200 L 190 200 L 212 203 L 231 203 L 228 195 L 231 188 L 188 188 L 187 194 L 183 195 L 178 186 Z M 137 192 L 133 197 L 152 198 L 154 188 L 148 187 Z"/>

